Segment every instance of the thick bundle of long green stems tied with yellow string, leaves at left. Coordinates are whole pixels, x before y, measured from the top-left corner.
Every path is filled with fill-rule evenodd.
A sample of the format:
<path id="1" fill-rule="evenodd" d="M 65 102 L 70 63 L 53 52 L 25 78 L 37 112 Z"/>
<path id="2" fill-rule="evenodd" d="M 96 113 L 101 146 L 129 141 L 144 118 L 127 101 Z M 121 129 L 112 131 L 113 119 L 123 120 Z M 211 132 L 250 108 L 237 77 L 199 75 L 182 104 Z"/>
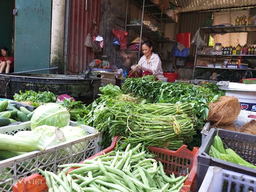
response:
<path id="1" fill-rule="evenodd" d="M 87 107 L 88 114 L 79 124 L 102 132 L 102 148 L 111 144 L 115 135 L 134 145 L 158 146 L 177 150 L 184 138 L 196 134 L 193 107 L 189 103 L 144 103 L 122 94 L 118 86 L 100 88 L 102 95 Z"/>

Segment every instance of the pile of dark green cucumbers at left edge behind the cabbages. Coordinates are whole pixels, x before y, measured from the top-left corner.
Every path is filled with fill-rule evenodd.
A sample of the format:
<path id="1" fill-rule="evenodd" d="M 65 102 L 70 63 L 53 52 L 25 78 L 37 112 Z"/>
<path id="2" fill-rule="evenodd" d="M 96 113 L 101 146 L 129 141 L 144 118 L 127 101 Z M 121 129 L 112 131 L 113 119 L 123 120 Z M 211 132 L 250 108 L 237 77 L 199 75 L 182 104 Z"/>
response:
<path id="1" fill-rule="evenodd" d="M 34 111 L 31 112 L 24 106 L 9 103 L 7 100 L 0 102 L 0 127 L 7 126 L 13 122 L 30 121 Z"/>

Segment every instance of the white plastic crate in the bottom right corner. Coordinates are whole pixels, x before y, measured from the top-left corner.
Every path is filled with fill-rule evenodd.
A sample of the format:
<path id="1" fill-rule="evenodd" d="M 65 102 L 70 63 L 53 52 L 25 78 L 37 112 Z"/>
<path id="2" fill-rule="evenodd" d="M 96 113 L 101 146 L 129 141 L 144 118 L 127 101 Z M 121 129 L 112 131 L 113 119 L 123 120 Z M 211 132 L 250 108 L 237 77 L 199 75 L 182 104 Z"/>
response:
<path id="1" fill-rule="evenodd" d="M 256 177 L 209 166 L 198 192 L 255 192 Z"/>

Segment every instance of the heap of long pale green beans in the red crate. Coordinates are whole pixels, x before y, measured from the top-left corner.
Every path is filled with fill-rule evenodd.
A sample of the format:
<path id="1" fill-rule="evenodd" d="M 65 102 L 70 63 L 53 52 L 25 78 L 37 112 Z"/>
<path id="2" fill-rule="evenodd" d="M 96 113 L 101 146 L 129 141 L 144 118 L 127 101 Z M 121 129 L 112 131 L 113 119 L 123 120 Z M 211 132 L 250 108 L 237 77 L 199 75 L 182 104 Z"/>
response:
<path id="1" fill-rule="evenodd" d="M 188 177 L 166 176 L 162 163 L 140 144 L 132 149 L 128 145 L 124 152 L 111 151 L 84 163 L 59 167 L 64 169 L 58 175 L 38 169 L 46 178 L 49 192 L 179 192 Z M 71 167 L 76 169 L 68 172 Z"/>

